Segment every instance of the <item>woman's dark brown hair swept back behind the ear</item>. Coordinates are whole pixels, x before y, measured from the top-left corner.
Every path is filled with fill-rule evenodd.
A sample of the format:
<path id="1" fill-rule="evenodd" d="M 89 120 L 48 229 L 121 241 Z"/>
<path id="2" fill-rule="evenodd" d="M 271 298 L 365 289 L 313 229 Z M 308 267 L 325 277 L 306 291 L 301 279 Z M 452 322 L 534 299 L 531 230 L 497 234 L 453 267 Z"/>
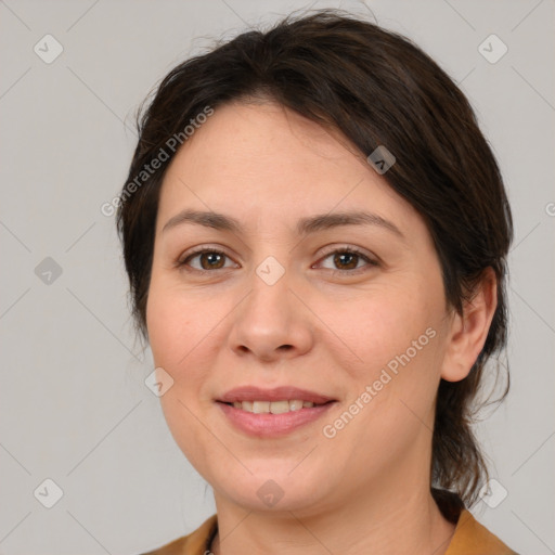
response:
<path id="1" fill-rule="evenodd" d="M 168 139 L 183 139 L 207 106 L 253 99 L 340 131 L 364 157 L 380 145 L 393 154 L 397 162 L 383 177 L 424 219 L 450 309 L 463 313 L 487 269 L 495 273 L 498 306 L 483 348 L 467 377 L 441 379 L 436 400 L 431 493 L 437 501 L 450 495 L 460 505 L 474 504 L 488 469 L 470 428 L 473 405 L 486 362 L 506 345 L 513 222 L 500 169 L 468 100 L 409 39 L 343 10 L 319 10 L 219 42 L 162 80 L 138 114 L 139 140 L 117 211 L 138 332 L 147 339 L 158 197 L 179 150 L 168 149 Z M 144 173 L 163 151 L 159 169 Z M 507 390 L 508 379 L 501 399 Z"/>

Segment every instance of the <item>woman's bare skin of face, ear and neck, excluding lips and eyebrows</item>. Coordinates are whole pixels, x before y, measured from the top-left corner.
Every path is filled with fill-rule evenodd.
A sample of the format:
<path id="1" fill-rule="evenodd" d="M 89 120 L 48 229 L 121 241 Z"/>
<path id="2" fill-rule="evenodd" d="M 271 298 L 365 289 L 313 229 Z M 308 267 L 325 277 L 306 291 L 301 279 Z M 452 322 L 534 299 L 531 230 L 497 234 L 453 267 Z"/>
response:
<path id="1" fill-rule="evenodd" d="M 184 208 L 232 216 L 244 232 L 163 231 Z M 380 225 L 296 233 L 300 218 L 350 210 Z M 227 256 L 179 267 L 197 246 Z M 349 246 L 377 264 L 334 262 L 330 253 Z M 284 269 L 273 285 L 256 273 L 269 256 Z M 463 315 L 447 306 L 424 220 L 338 132 L 271 102 L 219 106 L 165 176 L 146 311 L 156 366 L 175 380 L 160 398 L 166 421 L 214 488 L 212 552 L 444 553 L 454 526 L 429 493 L 436 392 L 441 377 L 469 372 L 495 302 L 486 273 Z M 325 437 L 323 426 L 429 328 L 434 338 Z M 289 435 L 256 438 L 215 402 L 243 385 L 293 385 L 337 402 Z M 283 491 L 271 507 L 257 495 L 269 479 Z"/>

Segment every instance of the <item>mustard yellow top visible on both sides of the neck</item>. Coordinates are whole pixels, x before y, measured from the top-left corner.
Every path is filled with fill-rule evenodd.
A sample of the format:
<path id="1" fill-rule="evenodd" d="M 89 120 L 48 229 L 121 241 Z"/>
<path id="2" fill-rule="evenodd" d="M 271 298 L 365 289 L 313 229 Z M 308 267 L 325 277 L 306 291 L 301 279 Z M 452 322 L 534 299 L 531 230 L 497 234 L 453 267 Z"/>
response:
<path id="1" fill-rule="evenodd" d="M 217 515 L 189 535 L 142 555 L 209 555 L 218 530 Z M 461 511 L 455 532 L 446 555 L 518 555 L 478 522 L 466 508 Z"/>

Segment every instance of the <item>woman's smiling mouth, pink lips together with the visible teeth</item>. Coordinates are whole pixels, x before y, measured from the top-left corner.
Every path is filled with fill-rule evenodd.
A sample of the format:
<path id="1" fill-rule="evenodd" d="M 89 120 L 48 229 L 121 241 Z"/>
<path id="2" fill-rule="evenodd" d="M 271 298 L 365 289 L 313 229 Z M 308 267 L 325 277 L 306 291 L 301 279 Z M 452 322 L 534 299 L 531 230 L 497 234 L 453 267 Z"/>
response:
<path id="1" fill-rule="evenodd" d="M 216 400 L 228 422 L 258 438 L 284 436 L 321 418 L 337 400 L 298 389 L 242 387 Z"/>

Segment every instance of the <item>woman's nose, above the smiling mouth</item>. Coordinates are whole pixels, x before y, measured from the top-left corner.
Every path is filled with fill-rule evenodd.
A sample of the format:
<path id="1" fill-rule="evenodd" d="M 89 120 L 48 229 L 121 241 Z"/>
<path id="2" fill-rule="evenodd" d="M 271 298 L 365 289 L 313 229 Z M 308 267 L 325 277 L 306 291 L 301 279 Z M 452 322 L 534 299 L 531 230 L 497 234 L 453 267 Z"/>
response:
<path id="1" fill-rule="evenodd" d="M 273 362 L 311 349 L 314 315 L 301 301 L 298 282 L 289 278 L 286 271 L 272 283 L 253 272 L 250 291 L 231 314 L 229 341 L 240 357 Z"/>

